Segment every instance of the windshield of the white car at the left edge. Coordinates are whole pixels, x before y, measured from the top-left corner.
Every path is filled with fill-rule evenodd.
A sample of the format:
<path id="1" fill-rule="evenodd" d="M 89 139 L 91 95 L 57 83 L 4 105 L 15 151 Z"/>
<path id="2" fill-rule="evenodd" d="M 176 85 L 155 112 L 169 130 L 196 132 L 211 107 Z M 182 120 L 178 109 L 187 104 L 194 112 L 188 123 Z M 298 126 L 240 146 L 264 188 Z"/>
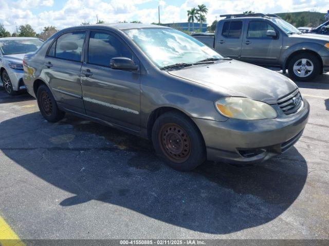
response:
<path id="1" fill-rule="evenodd" d="M 22 54 L 36 51 L 43 42 L 39 39 L 11 39 L 0 41 L 4 55 Z"/>

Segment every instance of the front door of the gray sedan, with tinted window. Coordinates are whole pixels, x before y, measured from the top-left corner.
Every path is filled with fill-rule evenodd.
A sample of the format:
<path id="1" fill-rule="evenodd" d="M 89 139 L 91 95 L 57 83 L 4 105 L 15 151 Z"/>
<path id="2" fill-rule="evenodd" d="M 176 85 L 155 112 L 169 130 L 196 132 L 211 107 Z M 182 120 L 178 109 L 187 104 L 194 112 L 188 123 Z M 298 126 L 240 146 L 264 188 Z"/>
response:
<path id="1" fill-rule="evenodd" d="M 86 114 L 131 130 L 140 130 L 140 70 L 109 67 L 113 57 L 139 61 L 120 38 L 107 31 L 91 31 L 81 69 Z"/>

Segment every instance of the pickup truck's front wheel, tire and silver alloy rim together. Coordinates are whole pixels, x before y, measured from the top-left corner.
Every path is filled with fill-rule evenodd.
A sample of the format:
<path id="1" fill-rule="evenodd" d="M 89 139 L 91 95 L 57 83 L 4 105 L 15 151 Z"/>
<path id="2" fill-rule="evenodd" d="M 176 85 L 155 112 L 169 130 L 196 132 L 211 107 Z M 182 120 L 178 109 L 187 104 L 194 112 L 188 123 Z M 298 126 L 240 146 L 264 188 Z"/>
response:
<path id="1" fill-rule="evenodd" d="M 321 62 L 314 54 L 298 54 L 289 61 L 288 72 L 293 80 L 309 81 L 320 74 Z"/>

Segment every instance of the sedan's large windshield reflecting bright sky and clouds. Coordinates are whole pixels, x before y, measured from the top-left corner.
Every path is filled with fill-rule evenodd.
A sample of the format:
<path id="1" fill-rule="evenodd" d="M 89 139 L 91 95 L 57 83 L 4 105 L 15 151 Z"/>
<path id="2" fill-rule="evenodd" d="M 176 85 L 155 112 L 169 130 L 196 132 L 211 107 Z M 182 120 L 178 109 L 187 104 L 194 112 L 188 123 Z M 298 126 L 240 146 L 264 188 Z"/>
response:
<path id="1" fill-rule="evenodd" d="M 195 38 L 169 28 L 143 28 L 124 31 L 160 68 L 192 64 L 209 58 L 224 58 Z"/>

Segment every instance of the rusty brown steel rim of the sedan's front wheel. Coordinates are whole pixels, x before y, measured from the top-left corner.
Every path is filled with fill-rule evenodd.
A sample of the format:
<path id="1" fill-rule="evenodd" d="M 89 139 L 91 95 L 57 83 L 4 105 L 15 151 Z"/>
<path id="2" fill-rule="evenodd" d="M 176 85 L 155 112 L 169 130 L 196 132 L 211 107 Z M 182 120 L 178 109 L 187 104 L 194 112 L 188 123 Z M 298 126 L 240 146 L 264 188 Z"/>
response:
<path id="1" fill-rule="evenodd" d="M 190 137 L 176 124 L 168 123 L 161 127 L 159 142 L 163 153 L 173 162 L 184 162 L 191 155 Z"/>

